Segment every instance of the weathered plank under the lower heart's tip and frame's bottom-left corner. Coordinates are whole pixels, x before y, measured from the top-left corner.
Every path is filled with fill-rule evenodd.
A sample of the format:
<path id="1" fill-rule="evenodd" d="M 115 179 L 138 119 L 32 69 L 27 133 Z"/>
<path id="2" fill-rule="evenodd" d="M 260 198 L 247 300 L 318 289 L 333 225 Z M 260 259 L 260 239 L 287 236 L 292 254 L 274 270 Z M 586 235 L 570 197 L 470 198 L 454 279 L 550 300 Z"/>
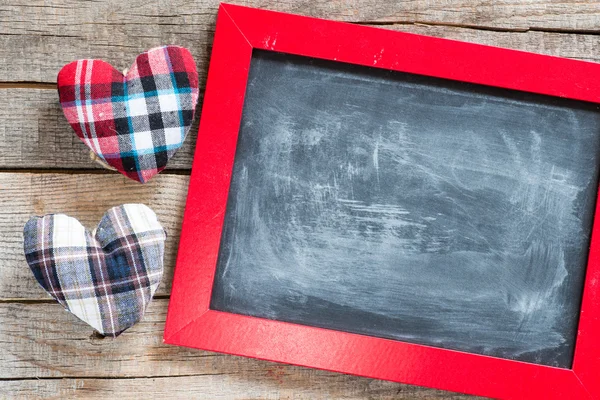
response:
<path id="1" fill-rule="evenodd" d="M 98 338 L 57 303 L 0 303 L 0 379 L 225 374 L 268 365 L 163 344 L 167 303 L 155 299 L 117 339 Z"/>

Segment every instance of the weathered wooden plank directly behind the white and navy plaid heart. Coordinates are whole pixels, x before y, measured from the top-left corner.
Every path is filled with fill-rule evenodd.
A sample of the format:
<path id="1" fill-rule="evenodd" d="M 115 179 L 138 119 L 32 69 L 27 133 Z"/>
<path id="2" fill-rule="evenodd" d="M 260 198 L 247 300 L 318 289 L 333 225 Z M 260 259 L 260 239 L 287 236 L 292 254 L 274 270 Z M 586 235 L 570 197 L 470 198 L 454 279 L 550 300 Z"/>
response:
<path id="1" fill-rule="evenodd" d="M 0 173 L 0 299 L 48 299 L 23 254 L 23 226 L 32 215 L 65 213 L 93 229 L 110 207 L 144 203 L 167 230 L 165 274 L 170 292 L 189 177 L 159 175 L 142 185 L 120 174 Z"/>

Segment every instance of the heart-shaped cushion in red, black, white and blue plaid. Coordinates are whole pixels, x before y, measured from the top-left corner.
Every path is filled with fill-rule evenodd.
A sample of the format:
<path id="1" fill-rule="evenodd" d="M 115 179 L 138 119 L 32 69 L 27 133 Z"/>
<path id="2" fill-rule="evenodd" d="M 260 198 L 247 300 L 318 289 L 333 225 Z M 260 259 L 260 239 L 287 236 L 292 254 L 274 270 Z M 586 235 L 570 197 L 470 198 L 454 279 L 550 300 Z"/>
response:
<path id="1" fill-rule="evenodd" d="M 108 165 L 145 183 L 185 140 L 198 72 L 187 49 L 157 47 L 140 54 L 125 76 L 102 60 L 67 64 L 58 94 L 77 136 Z"/>

